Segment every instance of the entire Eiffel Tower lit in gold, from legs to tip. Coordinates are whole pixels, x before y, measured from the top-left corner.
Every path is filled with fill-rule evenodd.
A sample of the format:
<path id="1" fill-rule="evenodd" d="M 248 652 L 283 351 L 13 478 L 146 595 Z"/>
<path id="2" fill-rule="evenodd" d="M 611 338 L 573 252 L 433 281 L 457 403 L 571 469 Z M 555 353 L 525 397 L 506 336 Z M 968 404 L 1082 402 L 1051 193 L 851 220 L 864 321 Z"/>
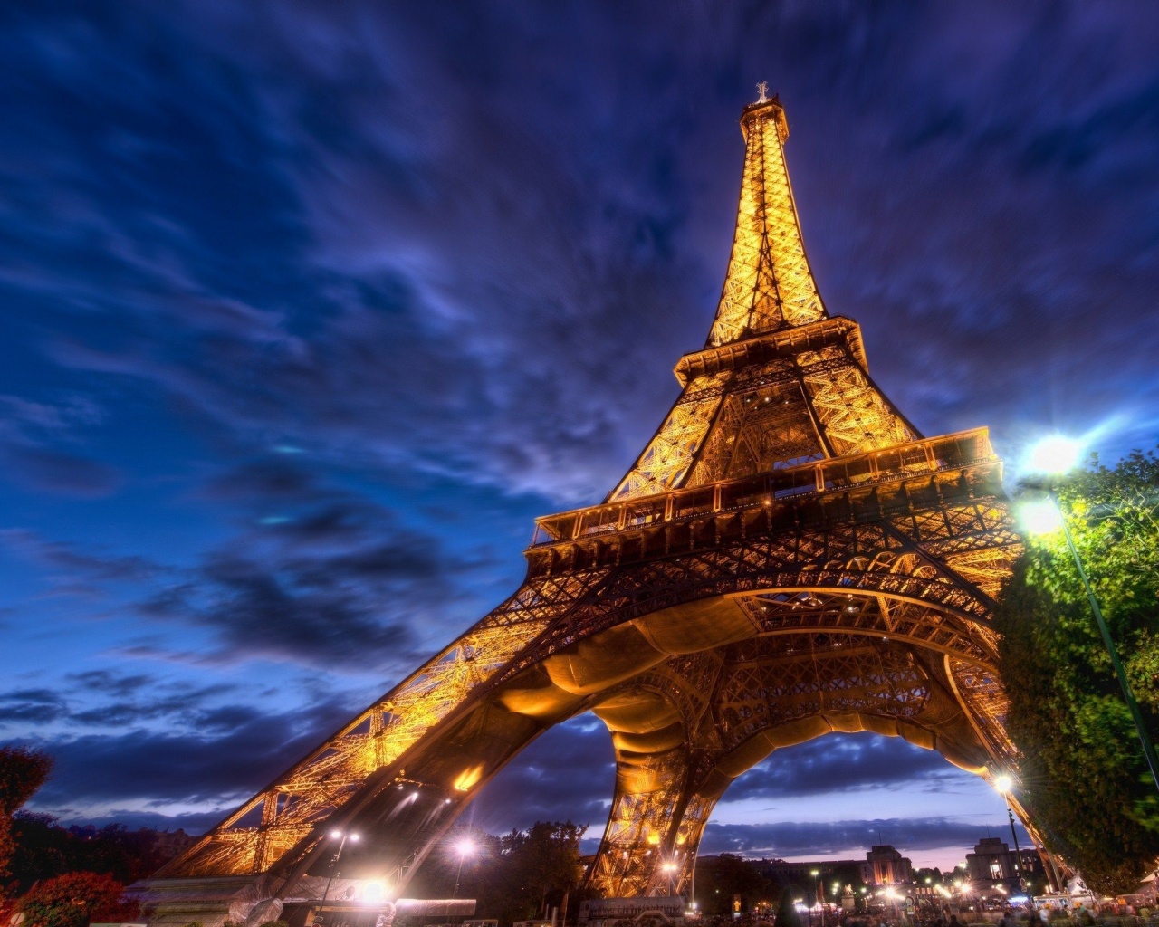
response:
<path id="1" fill-rule="evenodd" d="M 401 892 L 506 762 L 584 711 L 615 751 L 586 876 L 605 896 L 685 890 L 729 784 L 830 731 L 987 778 L 1015 765 L 990 623 L 1020 549 L 1001 461 L 985 429 L 924 437 L 869 375 L 858 323 L 825 308 L 785 110 L 760 90 L 708 341 L 677 363 L 681 393 L 627 475 L 538 519 L 515 594 L 155 885 L 217 884 L 256 924 L 319 898 L 328 832 L 357 829 L 373 854 L 351 866 Z"/>

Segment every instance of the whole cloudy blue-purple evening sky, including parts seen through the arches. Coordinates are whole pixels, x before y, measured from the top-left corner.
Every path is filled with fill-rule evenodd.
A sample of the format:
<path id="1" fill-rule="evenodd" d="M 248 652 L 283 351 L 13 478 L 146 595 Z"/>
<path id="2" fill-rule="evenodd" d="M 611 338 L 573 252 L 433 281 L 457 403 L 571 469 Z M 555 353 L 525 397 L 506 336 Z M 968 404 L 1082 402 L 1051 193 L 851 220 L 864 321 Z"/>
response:
<path id="1" fill-rule="evenodd" d="M 926 433 L 1159 423 L 1159 12 L 7 5 L 0 738 L 66 818 L 202 829 L 482 615 L 704 343 L 770 81 L 831 311 Z M 578 718 L 473 809 L 589 822 Z M 705 849 L 961 859 L 977 780 L 830 737 Z"/>

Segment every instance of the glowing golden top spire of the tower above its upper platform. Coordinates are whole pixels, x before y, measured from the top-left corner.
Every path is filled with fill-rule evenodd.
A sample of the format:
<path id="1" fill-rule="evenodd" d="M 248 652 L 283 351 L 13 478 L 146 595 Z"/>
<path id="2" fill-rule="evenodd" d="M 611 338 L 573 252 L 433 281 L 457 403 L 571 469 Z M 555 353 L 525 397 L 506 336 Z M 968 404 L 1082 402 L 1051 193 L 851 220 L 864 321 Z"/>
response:
<path id="1" fill-rule="evenodd" d="M 806 257 L 785 166 L 785 108 L 766 95 L 741 115 L 744 174 L 732 253 L 708 346 L 828 317 Z"/>

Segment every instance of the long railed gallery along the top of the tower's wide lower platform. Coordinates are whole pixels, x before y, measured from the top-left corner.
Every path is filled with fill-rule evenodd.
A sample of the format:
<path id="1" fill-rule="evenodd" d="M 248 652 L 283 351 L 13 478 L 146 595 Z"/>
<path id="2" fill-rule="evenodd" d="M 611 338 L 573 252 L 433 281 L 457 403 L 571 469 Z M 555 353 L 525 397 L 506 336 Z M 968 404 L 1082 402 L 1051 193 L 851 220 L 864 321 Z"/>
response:
<path id="1" fill-rule="evenodd" d="M 531 546 L 639 531 L 997 460 L 984 428 L 535 519 Z"/>

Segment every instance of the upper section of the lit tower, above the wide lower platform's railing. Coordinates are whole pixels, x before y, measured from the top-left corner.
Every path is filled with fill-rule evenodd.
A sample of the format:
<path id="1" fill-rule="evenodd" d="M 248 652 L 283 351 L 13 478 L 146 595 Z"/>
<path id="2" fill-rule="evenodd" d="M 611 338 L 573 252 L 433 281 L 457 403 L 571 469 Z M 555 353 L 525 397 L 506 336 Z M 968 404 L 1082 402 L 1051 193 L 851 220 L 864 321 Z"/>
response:
<path id="1" fill-rule="evenodd" d="M 766 89 L 741 115 L 741 203 L 708 344 L 680 358 L 684 392 L 608 502 L 920 437 L 869 378 L 857 322 L 821 300 L 785 168 L 785 109 Z"/>

